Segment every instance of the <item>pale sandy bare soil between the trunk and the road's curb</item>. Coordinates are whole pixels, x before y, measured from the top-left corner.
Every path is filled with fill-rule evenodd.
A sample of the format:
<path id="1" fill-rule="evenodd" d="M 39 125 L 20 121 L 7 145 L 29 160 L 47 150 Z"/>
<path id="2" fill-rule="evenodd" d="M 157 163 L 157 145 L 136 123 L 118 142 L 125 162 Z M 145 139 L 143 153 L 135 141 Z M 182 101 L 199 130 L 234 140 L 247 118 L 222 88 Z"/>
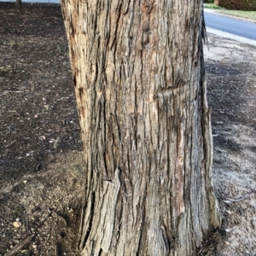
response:
<path id="1" fill-rule="evenodd" d="M 213 177 L 223 215 L 217 255 L 256 255 L 256 48 L 209 35 Z"/>

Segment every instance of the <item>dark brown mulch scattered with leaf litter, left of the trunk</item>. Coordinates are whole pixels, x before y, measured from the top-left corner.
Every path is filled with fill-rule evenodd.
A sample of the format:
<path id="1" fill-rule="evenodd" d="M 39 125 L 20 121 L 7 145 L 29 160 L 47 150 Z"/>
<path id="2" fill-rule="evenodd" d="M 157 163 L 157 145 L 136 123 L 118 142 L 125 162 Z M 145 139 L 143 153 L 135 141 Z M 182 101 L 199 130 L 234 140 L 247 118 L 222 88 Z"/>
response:
<path id="1" fill-rule="evenodd" d="M 0 3 L 0 186 L 81 150 L 59 4 Z"/>

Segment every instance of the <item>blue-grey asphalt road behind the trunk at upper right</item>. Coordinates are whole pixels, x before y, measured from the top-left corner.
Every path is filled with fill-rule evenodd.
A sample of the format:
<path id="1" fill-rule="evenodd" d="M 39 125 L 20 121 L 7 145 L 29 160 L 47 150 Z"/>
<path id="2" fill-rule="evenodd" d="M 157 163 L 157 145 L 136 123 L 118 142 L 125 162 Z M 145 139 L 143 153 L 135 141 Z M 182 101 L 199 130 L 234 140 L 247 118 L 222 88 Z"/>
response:
<path id="1" fill-rule="evenodd" d="M 232 19 L 224 15 L 205 12 L 206 25 L 223 32 L 229 32 L 243 38 L 256 40 L 256 24 L 244 20 Z"/>

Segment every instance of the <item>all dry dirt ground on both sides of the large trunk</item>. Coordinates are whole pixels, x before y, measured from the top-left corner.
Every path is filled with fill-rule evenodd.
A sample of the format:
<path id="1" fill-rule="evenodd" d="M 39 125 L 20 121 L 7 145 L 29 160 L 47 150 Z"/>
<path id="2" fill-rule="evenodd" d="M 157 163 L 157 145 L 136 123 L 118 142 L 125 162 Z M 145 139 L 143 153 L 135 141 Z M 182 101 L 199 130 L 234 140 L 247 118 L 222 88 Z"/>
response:
<path id="1" fill-rule="evenodd" d="M 0 256 L 20 242 L 15 255 L 79 255 L 84 171 L 61 9 L 0 3 L 0 17 Z M 215 254 L 253 256 L 256 49 L 208 40 L 213 177 L 224 219 Z"/>

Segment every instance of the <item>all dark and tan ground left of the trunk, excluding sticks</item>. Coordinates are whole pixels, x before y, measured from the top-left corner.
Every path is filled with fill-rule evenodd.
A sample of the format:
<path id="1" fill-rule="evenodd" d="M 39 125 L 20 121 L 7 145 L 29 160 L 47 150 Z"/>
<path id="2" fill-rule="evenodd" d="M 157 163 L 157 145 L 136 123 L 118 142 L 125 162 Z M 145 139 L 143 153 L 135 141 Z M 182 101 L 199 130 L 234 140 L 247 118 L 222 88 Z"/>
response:
<path id="1" fill-rule="evenodd" d="M 17 255 L 79 255 L 82 143 L 60 5 L 0 3 L 0 17 L 0 255 L 48 208 Z"/>

